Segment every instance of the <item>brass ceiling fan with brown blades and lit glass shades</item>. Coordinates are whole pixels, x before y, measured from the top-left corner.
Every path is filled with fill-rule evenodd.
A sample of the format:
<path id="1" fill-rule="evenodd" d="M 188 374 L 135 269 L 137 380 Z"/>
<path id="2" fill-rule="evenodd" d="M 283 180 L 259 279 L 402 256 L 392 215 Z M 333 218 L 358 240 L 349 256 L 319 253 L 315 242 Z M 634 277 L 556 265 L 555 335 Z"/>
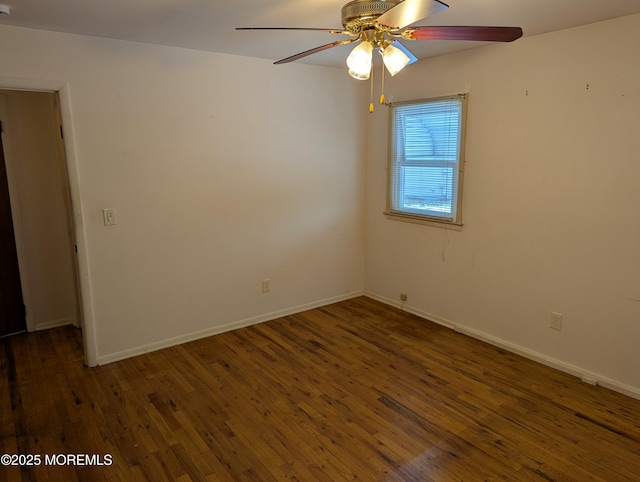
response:
<path id="1" fill-rule="evenodd" d="M 352 0 L 342 7 L 341 30 L 297 27 L 238 27 L 236 30 L 313 30 L 347 35 L 349 38 L 300 52 L 275 63 L 286 64 L 338 45 L 359 42 L 347 57 L 349 74 L 359 80 L 371 76 L 372 55 L 376 49 L 392 76 L 418 60 L 399 39 L 512 42 L 522 37 L 520 27 L 410 26 L 448 8 L 440 0 Z M 384 103 L 384 96 L 381 103 Z M 373 104 L 369 110 L 373 111 L 372 108 Z"/>

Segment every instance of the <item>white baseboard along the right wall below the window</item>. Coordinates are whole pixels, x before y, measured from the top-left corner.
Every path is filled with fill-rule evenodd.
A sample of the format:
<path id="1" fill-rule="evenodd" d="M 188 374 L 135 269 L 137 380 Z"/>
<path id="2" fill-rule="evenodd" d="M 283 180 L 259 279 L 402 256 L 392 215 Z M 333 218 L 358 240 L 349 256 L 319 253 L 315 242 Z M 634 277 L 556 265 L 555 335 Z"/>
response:
<path id="1" fill-rule="evenodd" d="M 525 358 L 528 358 L 529 360 L 533 360 L 535 362 L 541 363 L 548 367 L 555 368 L 556 370 L 560 370 L 562 372 L 568 373 L 569 375 L 573 375 L 575 377 L 580 378 L 584 383 L 588 383 L 589 385 L 594 385 L 594 386 L 600 385 L 601 387 L 605 387 L 615 392 L 619 392 L 629 397 L 640 400 L 640 388 L 626 385 L 617 380 L 613 380 L 611 378 L 585 370 L 584 368 L 571 365 L 570 363 L 565 363 L 562 360 L 558 360 L 556 358 L 552 358 L 542 353 L 538 353 L 536 351 L 530 350 L 523 346 L 516 345 L 515 343 L 511 343 L 501 338 L 497 338 L 495 336 L 489 335 L 482 331 L 475 330 L 467 326 L 459 325 L 457 323 L 454 323 L 451 320 L 447 320 L 445 318 L 434 315 L 432 313 L 427 313 L 426 311 L 422 311 L 417 308 L 407 306 L 404 303 L 400 303 L 390 298 L 377 295 L 376 293 L 365 291 L 364 295 L 369 298 L 378 300 L 382 303 L 385 303 L 387 305 L 395 306 L 396 308 L 401 308 L 403 311 L 419 316 L 420 318 L 424 318 L 425 320 L 432 321 L 439 325 L 445 326 L 447 328 L 457 331 L 458 333 L 462 333 L 464 335 L 470 336 L 472 338 L 483 341 L 485 343 L 489 343 L 490 345 L 497 346 L 499 348 L 507 350 L 511 353 L 515 353 L 516 355 L 520 355 Z"/>

